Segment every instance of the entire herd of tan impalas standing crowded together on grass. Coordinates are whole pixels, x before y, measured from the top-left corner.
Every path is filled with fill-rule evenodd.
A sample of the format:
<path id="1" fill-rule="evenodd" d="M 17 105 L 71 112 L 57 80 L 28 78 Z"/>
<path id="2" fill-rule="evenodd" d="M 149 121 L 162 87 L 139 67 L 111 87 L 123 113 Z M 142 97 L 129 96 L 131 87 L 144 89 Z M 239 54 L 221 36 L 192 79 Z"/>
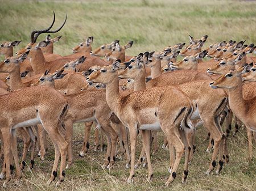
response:
<path id="1" fill-rule="evenodd" d="M 190 44 L 167 46 L 159 52 L 126 56 L 125 50 L 133 41 L 120 45 L 119 40 L 92 50 L 93 36 L 72 49 L 73 54 L 53 54 L 53 44 L 61 36 L 36 43 L 43 33 L 51 31 L 53 22 L 41 31 L 32 31 L 30 43 L 13 53 L 13 46 L 20 41 L 1 44 L 0 54 L 0 129 L 1 156 L 0 178 L 11 179 L 14 164 L 16 179 L 22 169 L 34 165 L 36 149 L 43 160 L 47 151 L 46 133 L 55 148 L 51 184 L 57 176 L 60 158 L 59 185 L 65 169 L 72 168 L 73 124 L 84 122 L 85 135 L 80 156 L 88 151 L 92 126 L 95 131 L 95 150 L 101 146 L 102 133 L 108 147 L 102 168 L 110 168 L 115 159 L 126 154 L 126 168 L 130 169 L 128 182 L 134 177 L 135 168 L 148 166 L 147 181 L 153 176 L 150 148 L 157 152 L 157 134 L 162 130 L 163 148 L 170 151 L 169 185 L 176 177 L 177 167 L 184 154 L 182 182 L 187 181 L 188 164 L 196 150 L 195 133 L 199 126 L 208 131 L 209 146 L 213 150 L 207 174 L 217 165 L 220 173 L 229 162 L 228 137 L 232 121 L 246 127 L 249 143 L 249 160 L 253 159 L 253 139 L 256 141 L 256 57 L 254 44 L 245 41 L 221 41 L 202 50 L 207 35 L 201 39 L 189 36 Z M 183 60 L 177 61 L 177 56 Z M 103 57 L 104 59 L 102 59 Z M 212 58 L 203 61 L 204 57 Z M 224 124 L 225 125 L 222 125 Z M 224 126 L 222 128 L 222 126 Z M 21 163 L 18 159 L 15 131 L 23 139 Z M 100 131 L 99 131 L 100 130 Z M 101 133 L 101 143 L 100 134 Z M 135 162 L 137 135 L 141 134 L 143 147 Z M 130 138 L 129 138 L 130 137 Z M 36 141 L 39 146 L 36 146 Z M 129 144 L 130 143 L 130 144 Z M 153 147 L 154 146 L 154 147 Z M 38 147 L 38 148 L 37 148 Z M 26 163 L 28 148 L 30 162 Z M 147 159 L 147 160 L 146 160 Z M 67 165 L 66 165 L 67 160 Z"/>

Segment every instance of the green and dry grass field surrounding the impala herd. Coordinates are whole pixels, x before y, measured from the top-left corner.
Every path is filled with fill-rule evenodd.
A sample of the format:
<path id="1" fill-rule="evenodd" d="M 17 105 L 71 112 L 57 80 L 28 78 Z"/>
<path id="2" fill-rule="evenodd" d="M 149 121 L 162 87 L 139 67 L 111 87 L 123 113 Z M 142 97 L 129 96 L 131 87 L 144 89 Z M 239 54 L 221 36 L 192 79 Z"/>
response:
<path id="1" fill-rule="evenodd" d="M 246 40 L 246 44 L 256 44 L 256 1 L 216 0 L 0 0 L 0 42 L 22 40 L 18 48 L 15 46 L 16 52 L 29 43 L 33 29 L 48 27 L 52 20 L 52 11 L 56 14 L 55 28 L 62 24 L 65 14 L 68 14 L 63 29 L 52 34 L 52 37 L 62 36 L 54 45 L 54 53 L 61 56 L 71 54 L 71 49 L 89 36 L 94 37 L 93 49 L 113 40 L 120 40 L 121 45 L 133 40 L 133 46 L 126 51 L 129 56 L 146 51 L 159 51 L 177 43 L 188 45 L 188 35 L 196 39 L 208 35 L 203 49 L 222 40 Z M 38 41 L 44 40 L 45 36 L 46 34 L 39 36 Z M 1 55 L 0 60 L 3 59 Z M 91 131 L 89 151 L 84 157 L 79 156 L 84 138 L 84 124 L 75 124 L 72 145 L 74 163 L 67 169 L 65 180 L 59 187 L 46 184 L 55 158 L 54 148 L 48 138 L 49 148 L 45 160 L 35 157 L 32 171 L 25 167 L 19 184 L 14 185 L 15 180 L 11 180 L 5 190 L 256 190 L 255 143 L 254 159 L 249 163 L 246 130 L 240 128 L 236 137 L 233 137 L 233 131 L 234 126 L 228 137 L 230 162 L 224 164 L 220 175 L 216 175 L 216 171 L 209 176 L 205 175 L 212 153 L 206 152 L 208 141 L 204 139 L 208 131 L 202 126 L 196 133 L 195 158 L 189 165 L 187 183 L 181 183 L 183 157 L 175 181 L 166 187 L 164 182 L 170 176 L 167 172 L 169 151 L 162 148 L 163 133 L 159 133 L 158 151 L 151 155 L 154 170 L 152 181 L 146 181 L 147 168 L 139 167 L 135 169 L 133 183 L 127 184 L 129 169 L 125 168 L 125 160 L 117 160 L 110 170 L 101 168 L 106 147 L 103 152 L 94 151 L 94 129 Z M 139 136 L 136 161 L 141 147 Z M 22 149 L 23 142 L 18 136 L 19 156 L 22 155 Z M 3 158 L 1 165 L 2 163 Z M 3 180 L 0 182 L 2 184 Z"/>

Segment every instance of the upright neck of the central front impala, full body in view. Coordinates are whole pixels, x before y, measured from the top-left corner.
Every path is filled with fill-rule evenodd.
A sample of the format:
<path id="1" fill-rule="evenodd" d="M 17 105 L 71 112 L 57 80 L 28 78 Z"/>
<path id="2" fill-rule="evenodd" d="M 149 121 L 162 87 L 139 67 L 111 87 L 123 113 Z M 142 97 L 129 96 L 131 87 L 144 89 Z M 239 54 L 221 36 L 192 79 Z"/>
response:
<path id="1" fill-rule="evenodd" d="M 121 95 L 119 94 L 119 80 L 118 73 L 115 72 L 113 80 L 106 84 L 106 101 L 110 109 L 115 113 L 119 113 L 119 107 L 121 107 Z"/>

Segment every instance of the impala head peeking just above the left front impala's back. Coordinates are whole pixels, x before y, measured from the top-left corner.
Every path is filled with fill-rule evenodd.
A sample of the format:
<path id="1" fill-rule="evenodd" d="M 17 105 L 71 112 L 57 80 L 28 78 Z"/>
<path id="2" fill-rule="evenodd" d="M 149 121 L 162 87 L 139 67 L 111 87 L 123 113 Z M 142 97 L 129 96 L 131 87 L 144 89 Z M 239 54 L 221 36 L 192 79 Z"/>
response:
<path id="1" fill-rule="evenodd" d="M 35 83 L 32 83 L 30 86 L 50 86 L 54 87 L 55 79 L 63 78 L 67 73 L 63 74 L 64 70 L 56 71 L 55 73 L 49 74 L 49 70 L 46 70 L 45 73 L 39 78 Z"/>

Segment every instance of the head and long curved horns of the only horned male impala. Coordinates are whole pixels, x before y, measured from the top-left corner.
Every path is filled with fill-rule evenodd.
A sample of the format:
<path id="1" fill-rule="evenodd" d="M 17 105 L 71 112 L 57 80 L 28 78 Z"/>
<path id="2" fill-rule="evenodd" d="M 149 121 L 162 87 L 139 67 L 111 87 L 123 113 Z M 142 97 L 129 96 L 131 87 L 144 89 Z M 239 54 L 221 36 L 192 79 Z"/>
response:
<path id="1" fill-rule="evenodd" d="M 60 29 L 63 28 L 63 26 L 65 25 L 65 23 L 67 21 L 67 16 L 68 15 L 66 15 L 64 23 L 62 24 L 62 26 L 60 28 L 56 29 L 55 31 L 50 31 L 50 29 L 52 28 L 52 26 L 53 26 L 53 24 L 55 22 L 55 12 L 53 11 L 53 21 L 52 21 L 51 26 L 49 26 L 46 29 L 40 30 L 40 31 L 36 31 L 36 30 L 32 31 L 31 32 L 31 37 L 30 37 L 30 43 L 28 43 L 28 45 L 25 48 L 20 49 L 18 52 L 16 52 L 16 55 L 23 54 L 24 52 L 27 52 L 28 50 L 35 50 L 35 49 L 38 49 L 40 47 L 45 47 L 45 45 L 49 44 L 49 42 L 47 43 L 46 41 L 41 41 L 43 43 L 40 42 L 38 45 L 36 45 L 36 40 L 38 39 L 38 36 L 40 34 L 59 32 Z"/>

